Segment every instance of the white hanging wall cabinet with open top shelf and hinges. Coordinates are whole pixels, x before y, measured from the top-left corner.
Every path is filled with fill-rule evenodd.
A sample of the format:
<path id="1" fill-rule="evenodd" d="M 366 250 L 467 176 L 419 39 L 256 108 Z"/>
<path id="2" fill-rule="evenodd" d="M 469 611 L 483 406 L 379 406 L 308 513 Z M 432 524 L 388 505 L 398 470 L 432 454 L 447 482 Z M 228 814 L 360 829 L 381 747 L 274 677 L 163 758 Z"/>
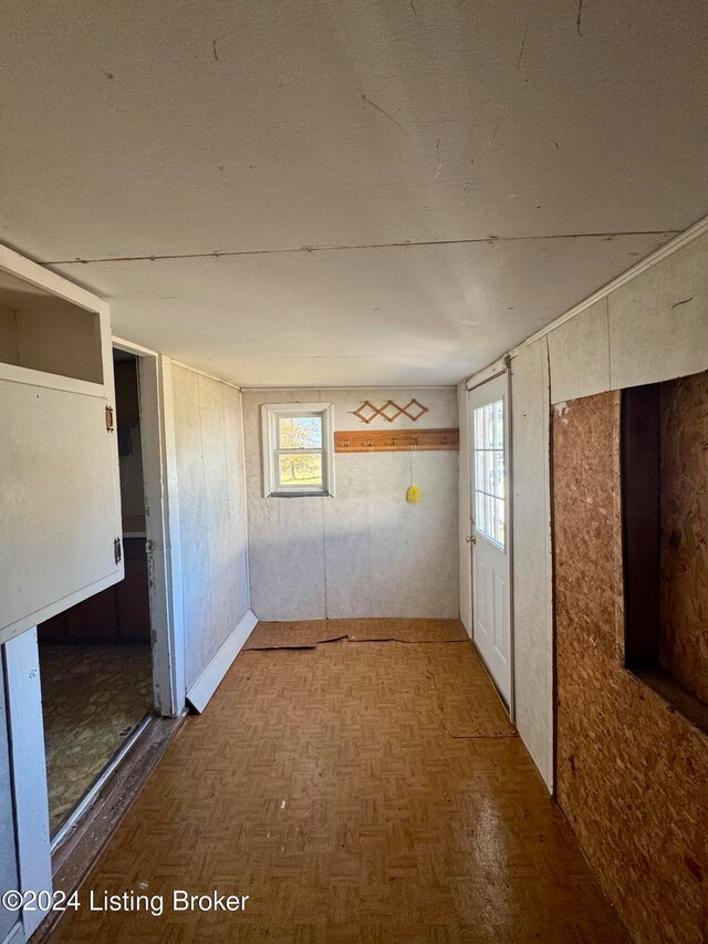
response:
<path id="1" fill-rule="evenodd" d="M 108 308 L 0 247 L 0 642 L 123 578 Z"/>

